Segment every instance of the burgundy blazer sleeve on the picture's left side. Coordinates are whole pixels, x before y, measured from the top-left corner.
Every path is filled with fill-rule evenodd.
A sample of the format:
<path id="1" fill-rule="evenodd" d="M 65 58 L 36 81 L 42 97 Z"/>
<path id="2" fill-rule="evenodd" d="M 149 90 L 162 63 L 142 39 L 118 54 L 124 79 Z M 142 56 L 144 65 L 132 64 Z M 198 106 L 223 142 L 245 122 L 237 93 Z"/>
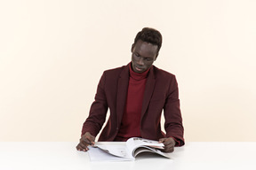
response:
<path id="1" fill-rule="evenodd" d="M 82 135 L 84 135 L 86 132 L 90 132 L 94 136 L 98 135 L 106 120 L 108 103 L 104 88 L 105 81 L 106 73 L 104 72 L 100 78 L 94 102 L 91 105 L 89 116 L 84 122 Z"/>

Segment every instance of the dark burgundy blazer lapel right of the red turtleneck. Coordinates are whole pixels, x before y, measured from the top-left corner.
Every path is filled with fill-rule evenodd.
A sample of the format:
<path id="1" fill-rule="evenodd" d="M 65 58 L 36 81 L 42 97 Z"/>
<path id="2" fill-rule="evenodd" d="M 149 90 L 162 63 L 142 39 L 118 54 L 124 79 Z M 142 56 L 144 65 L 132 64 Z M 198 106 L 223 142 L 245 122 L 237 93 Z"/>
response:
<path id="1" fill-rule="evenodd" d="M 146 87 L 144 91 L 144 98 L 143 98 L 142 108 L 141 108 L 141 120 L 143 118 L 143 115 L 147 111 L 149 101 L 155 89 L 155 83 L 156 83 L 156 77 L 154 73 L 154 66 L 152 66 L 148 73 L 148 78 L 147 78 Z"/>

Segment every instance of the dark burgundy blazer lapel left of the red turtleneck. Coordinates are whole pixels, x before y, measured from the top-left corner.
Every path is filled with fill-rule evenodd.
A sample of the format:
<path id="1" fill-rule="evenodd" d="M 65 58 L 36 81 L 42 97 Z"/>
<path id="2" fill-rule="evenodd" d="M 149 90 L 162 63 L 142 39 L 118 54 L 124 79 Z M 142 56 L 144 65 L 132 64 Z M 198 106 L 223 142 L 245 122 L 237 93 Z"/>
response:
<path id="1" fill-rule="evenodd" d="M 125 66 L 124 70 L 119 75 L 118 86 L 117 86 L 116 117 L 117 117 L 118 128 L 123 118 L 128 85 L 129 85 L 129 66 Z"/>

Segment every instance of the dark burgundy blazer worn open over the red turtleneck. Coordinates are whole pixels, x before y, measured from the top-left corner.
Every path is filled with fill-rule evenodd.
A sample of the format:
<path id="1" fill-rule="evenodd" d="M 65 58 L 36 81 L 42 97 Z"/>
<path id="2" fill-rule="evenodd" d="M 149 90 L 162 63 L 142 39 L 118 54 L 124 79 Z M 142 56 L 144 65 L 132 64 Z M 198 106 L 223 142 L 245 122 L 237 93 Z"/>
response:
<path id="1" fill-rule="evenodd" d="M 89 117 L 83 125 L 82 135 L 85 132 L 90 132 L 94 136 L 98 135 L 109 108 L 108 122 L 100 134 L 99 141 L 114 141 L 122 121 L 129 76 L 128 65 L 105 71 L 102 74 Z M 160 126 L 163 110 L 166 135 L 161 131 Z M 179 90 L 175 75 L 151 66 L 141 109 L 140 135 L 151 140 L 172 136 L 180 145 L 183 145 L 183 131 Z"/>

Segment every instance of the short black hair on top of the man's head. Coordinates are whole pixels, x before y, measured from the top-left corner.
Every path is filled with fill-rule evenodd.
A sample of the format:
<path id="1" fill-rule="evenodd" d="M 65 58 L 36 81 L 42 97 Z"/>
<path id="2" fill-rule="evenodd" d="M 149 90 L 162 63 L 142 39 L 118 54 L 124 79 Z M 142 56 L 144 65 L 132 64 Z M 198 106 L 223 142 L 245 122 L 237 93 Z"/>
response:
<path id="1" fill-rule="evenodd" d="M 144 27 L 135 37 L 134 45 L 138 40 L 143 42 L 152 43 L 157 45 L 157 52 L 161 49 L 162 46 L 162 35 L 159 31 L 151 27 Z"/>

